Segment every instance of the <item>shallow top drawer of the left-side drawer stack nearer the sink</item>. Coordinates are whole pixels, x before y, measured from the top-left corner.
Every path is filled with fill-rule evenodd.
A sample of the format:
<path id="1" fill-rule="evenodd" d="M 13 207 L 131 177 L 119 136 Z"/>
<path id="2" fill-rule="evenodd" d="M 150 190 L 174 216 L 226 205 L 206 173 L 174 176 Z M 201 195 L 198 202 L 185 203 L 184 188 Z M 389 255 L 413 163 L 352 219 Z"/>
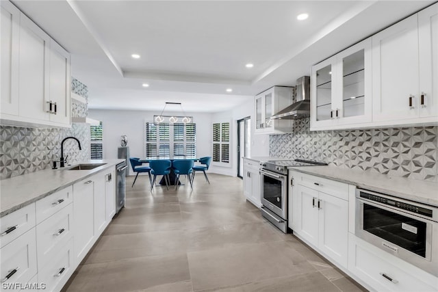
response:
<path id="1" fill-rule="evenodd" d="M 36 224 L 50 217 L 60 209 L 66 207 L 73 201 L 73 186 L 66 187 L 60 191 L 36 201 Z"/>

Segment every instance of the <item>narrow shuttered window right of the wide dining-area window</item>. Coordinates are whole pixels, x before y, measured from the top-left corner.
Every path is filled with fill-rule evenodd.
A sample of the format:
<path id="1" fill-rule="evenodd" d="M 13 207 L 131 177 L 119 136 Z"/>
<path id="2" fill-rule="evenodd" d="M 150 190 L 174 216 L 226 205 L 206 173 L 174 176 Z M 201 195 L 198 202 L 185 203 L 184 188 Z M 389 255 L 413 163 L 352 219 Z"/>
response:
<path id="1" fill-rule="evenodd" d="M 213 161 L 229 163 L 230 159 L 230 123 L 213 124 Z"/>

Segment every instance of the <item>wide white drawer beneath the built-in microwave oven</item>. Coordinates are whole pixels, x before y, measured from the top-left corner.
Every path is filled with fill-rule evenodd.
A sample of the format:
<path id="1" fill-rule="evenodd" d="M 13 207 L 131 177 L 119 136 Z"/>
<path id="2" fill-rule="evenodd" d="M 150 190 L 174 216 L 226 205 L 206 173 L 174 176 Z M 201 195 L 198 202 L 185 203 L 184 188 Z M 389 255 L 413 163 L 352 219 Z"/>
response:
<path id="1" fill-rule="evenodd" d="M 418 269 L 407 263 L 406 267 L 398 265 L 398 258 L 351 234 L 349 245 L 348 269 L 376 291 L 437 291 L 437 278 L 432 275 L 424 271 L 417 273 Z"/>

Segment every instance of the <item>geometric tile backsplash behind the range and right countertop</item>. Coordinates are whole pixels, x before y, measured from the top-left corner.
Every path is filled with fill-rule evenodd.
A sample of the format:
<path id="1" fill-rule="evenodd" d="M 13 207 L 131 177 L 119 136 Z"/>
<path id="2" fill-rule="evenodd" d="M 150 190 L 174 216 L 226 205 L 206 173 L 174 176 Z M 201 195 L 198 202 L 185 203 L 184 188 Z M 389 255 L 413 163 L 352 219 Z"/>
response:
<path id="1" fill-rule="evenodd" d="M 305 118 L 292 133 L 270 135 L 269 154 L 438 182 L 437 136 L 437 126 L 310 131 Z"/>

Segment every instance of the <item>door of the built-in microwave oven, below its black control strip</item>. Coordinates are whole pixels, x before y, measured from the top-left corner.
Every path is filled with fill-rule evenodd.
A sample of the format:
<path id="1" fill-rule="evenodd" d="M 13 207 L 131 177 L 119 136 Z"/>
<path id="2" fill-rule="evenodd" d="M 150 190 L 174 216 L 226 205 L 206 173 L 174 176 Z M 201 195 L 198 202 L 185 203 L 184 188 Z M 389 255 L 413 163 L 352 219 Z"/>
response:
<path id="1" fill-rule="evenodd" d="M 355 227 L 357 237 L 438 276 L 432 221 L 356 198 Z"/>

